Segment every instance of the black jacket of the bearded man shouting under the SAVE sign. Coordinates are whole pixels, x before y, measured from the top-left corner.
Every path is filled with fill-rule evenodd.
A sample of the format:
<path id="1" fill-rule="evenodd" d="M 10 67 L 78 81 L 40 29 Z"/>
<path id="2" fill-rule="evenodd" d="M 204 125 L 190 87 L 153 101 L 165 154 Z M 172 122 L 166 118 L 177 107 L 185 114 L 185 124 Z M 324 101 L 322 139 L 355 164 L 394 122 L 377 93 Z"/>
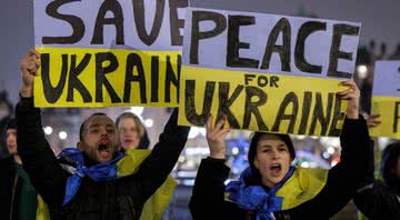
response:
<path id="1" fill-rule="evenodd" d="M 139 219 L 147 199 L 164 182 L 183 149 L 189 127 L 177 124 L 174 111 L 151 154 L 137 173 L 109 182 L 83 178 L 74 198 L 62 201 L 70 174 L 61 168 L 44 138 L 33 99 L 17 104 L 18 151 L 32 184 L 49 206 L 52 219 Z"/>

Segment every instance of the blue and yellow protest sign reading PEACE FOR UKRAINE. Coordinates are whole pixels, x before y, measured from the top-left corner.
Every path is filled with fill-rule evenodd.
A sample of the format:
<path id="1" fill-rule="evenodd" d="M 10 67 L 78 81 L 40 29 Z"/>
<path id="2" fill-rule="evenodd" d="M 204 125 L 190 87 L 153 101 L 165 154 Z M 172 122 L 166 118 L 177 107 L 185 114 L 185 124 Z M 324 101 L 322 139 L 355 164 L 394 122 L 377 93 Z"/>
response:
<path id="1" fill-rule="evenodd" d="M 339 136 L 360 24 L 277 14 L 188 9 L 179 123 L 209 112 L 236 129 Z"/>

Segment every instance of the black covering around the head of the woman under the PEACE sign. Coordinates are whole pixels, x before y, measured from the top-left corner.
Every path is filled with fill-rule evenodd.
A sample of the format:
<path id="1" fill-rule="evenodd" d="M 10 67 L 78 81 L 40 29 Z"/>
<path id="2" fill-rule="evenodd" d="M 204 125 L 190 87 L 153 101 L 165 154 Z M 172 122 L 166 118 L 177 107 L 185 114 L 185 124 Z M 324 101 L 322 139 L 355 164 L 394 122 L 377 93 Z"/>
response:
<path id="1" fill-rule="evenodd" d="M 280 140 L 282 140 L 288 146 L 289 153 L 292 157 L 292 159 L 296 158 L 296 151 L 294 151 L 293 142 L 292 142 L 291 138 L 289 137 L 289 134 L 257 131 L 250 138 L 251 141 L 250 141 L 250 147 L 249 147 L 249 152 L 248 152 L 249 166 L 250 166 L 250 169 L 251 169 L 251 171 L 252 171 L 252 173 L 254 176 L 259 176 L 259 170 L 256 168 L 256 166 L 253 163 L 256 154 L 257 154 L 257 144 L 258 144 L 260 138 L 263 134 L 277 136 Z"/>

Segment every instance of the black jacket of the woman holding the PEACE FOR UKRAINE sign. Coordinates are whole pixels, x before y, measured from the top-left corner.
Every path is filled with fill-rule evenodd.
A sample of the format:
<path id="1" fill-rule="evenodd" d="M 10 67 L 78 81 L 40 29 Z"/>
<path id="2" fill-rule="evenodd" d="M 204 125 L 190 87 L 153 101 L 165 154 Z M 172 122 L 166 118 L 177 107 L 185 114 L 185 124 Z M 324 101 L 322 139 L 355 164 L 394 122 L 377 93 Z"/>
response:
<path id="1" fill-rule="evenodd" d="M 296 208 L 274 212 L 277 219 L 328 219 L 350 201 L 367 172 L 369 134 L 364 119 L 346 119 L 340 140 L 341 162 L 329 170 L 321 192 Z M 223 182 L 229 170 L 223 160 L 202 160 L 189 203 L 193 219 L 242 220 L 249 217 L 248 211 L 224 201 Z"/>

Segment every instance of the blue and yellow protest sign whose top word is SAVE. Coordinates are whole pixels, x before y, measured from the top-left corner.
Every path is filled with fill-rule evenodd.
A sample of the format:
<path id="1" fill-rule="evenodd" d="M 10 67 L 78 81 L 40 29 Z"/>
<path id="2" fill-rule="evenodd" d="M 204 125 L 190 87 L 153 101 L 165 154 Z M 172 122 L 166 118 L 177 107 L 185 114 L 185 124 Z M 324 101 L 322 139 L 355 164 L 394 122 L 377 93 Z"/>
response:
<path id="1" fill-rule="evenodd" d="M 187 0 L 34 1 L 37 107 L 176 107 Z"/>

